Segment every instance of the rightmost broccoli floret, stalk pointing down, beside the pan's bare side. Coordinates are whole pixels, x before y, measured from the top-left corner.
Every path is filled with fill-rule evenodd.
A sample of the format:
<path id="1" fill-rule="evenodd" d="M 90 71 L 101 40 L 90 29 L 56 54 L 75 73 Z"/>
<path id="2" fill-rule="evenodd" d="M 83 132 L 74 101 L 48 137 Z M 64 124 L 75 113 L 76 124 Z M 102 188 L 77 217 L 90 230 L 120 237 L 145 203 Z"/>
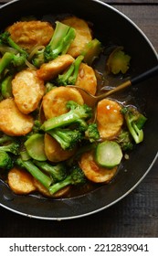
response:
<path id="1" fill-rule="evenodd" d="M 124 107 L 121 109 L 121 113 L 124 115 L 127 127 L 135 143 L 141 143 L 143 141 L 142 127 L 147 118 L 133 107 Z"/>

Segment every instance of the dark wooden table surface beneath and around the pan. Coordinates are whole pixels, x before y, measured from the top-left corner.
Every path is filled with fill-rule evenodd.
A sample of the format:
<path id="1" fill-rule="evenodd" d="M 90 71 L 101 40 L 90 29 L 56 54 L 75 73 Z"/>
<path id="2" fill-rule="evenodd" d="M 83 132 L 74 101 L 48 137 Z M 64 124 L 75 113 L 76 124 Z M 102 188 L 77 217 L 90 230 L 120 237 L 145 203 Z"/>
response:
<path id="1" fill-rule="evenodd" d="M 0 5 L 10 2 L 0 0 Z M 158 0 L 103 0 L 134 21 L 158 52 Z M 158 160 L 132 193 L 86 218 L 47 221 L 28 219 L 0 208 L 1 237 L 158 237 Z"/>

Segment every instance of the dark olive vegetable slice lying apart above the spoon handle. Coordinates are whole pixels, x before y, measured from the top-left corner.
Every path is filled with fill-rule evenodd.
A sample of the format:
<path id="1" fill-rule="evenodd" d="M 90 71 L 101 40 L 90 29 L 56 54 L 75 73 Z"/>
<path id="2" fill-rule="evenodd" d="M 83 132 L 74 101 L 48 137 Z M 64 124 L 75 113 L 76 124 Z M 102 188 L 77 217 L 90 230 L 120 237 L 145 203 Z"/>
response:
<path id="1" fill-rule="evenodd" d="M 114 75 L 118 73 L 125 74 L 129 69 L 131 57 L 125 54 L 121 48 L 116 48 L 107 61 L 108 70 Z"/>

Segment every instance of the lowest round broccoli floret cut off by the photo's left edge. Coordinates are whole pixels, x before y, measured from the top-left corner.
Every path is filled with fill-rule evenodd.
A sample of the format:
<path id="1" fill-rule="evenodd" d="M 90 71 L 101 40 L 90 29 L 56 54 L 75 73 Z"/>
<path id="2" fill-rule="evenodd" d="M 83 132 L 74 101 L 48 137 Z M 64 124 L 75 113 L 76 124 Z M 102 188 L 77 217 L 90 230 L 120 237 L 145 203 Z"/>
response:
<path id="1" fill-rule="evenodd" d="M 5 151 L 0 151 L 0 168 L 10 170 L 14 166 L 14 160 Z"/>

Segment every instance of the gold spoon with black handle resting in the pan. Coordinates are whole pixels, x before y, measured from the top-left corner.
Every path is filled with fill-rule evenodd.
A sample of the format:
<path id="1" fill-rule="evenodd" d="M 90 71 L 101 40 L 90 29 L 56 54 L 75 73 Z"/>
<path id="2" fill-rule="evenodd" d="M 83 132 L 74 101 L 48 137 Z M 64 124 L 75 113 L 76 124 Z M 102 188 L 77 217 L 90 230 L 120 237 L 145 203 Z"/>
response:
<path id="1" fill-rule="evenodd" d="M 90 106 L 96 106 L 97 103 L 106 97 L 110 96 L 111 94 L 121 91 L 125 88 L 128 88 L 132 85 L 138 84 L 139 82 L 142 82 L 143 80 L 148 80 L 152 78 L 153 76 L 158 75 L 158 65 L 153 67 L 152 69 L 148 69 L 147 71 L 143 72 L 142 74 L 132 78 L 131 80 L 126 80 L 125 82 L 121 83 L 121 85 L 117 86 L 116 88 L 112 89 L 111 91 L 106 91 L 99 96 L 94 96 L 90 94 L 90 92 L 86 91 L 83 88 L 80 88 L 79 86 L 76 85 L 68 85 L 68 87 L 71 88 L 77 88 L 78 90 L 84 91 L 88 97 L 90 97 Z"/>

